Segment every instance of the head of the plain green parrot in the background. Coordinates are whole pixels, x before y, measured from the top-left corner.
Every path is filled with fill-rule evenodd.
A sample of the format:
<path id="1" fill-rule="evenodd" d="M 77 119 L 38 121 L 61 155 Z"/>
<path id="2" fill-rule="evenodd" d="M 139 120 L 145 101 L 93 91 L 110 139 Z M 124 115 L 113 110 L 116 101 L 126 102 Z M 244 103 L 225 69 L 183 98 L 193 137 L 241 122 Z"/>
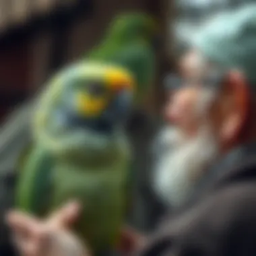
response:
<path id="1" fill-rule="evenodd" d="M 123 13 L 115 17 L 108 30 L 108 38 L 119 43 L 133 41 L 155 42 L 158 35 L 156 21 L 146 13 Z"/>

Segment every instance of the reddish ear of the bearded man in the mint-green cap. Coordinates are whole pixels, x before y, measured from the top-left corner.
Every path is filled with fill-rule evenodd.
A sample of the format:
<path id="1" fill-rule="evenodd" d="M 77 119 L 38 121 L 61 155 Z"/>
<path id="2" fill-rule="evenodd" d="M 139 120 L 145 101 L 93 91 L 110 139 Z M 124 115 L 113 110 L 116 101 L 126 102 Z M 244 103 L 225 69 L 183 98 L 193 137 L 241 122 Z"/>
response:
<path id="1" fill-rule="evenodd" d="M 243 73 L 232 70 L 224 79 L 224 123 L 222 139 L 236 139 L 242 132 L 249 115 L 249 84 Z"/>

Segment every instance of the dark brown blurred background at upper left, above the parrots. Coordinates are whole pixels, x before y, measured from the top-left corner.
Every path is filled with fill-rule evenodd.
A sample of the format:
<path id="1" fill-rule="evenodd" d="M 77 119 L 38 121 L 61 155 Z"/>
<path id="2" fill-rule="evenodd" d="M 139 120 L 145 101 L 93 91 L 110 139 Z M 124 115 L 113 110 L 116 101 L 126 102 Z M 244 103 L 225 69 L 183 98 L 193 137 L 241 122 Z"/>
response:
<path id="1" fill-rule="evenodd" d="M 1 1 L 1 121 L 56 69 L 90 50 L 100 40 L 110 19 L 120 11 L 140 9 L 162 17 L 160 6 L 154 2 Z"/>

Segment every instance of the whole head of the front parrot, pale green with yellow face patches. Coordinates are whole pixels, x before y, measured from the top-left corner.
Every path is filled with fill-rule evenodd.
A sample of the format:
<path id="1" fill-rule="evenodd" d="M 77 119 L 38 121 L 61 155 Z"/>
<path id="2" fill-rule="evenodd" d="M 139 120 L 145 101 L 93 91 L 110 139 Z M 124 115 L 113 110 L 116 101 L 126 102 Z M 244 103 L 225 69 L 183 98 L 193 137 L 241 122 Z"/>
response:
<path id="1" fill-rule="evenodd" d="M 133 76 L 113 65 L 86 62 L 64 69 L 39 102 L 35 139 L 65 158 L 114 156 L 120 127 L 132 107 L 134 86 Z"/>

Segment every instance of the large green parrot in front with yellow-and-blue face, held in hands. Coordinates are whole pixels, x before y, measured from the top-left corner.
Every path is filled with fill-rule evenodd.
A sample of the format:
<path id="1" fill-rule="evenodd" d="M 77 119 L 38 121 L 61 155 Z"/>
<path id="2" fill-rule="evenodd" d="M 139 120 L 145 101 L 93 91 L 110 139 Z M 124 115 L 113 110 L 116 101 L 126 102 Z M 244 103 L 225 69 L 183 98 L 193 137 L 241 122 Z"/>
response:
<path id="1" fill-rule="evenodd" d="M 75 231 L 96 255 L 119 243 L 131 162 L 122 125 L 134 88 L 118 66 L 87 62 L 59 73 L 39 101 L 34 147 L 18 179 L 18 208 L 38 217 L 81 201 Z"/>

